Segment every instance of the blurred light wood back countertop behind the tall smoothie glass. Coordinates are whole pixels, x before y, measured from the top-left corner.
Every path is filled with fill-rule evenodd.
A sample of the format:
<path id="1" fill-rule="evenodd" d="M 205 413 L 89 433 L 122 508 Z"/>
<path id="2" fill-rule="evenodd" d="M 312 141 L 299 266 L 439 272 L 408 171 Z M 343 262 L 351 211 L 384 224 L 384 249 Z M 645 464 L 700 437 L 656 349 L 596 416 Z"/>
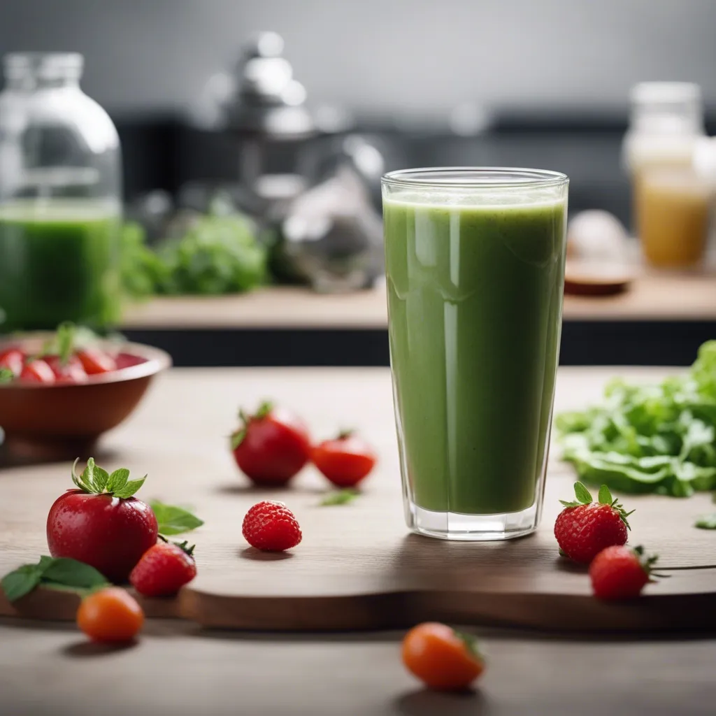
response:
<path id="1" fill-rule="evenodd" d="M 716 274 L 639 276 L 619 296 L 566 296 L 567 321 L 716 321 Z M 124 329 L 384 329 L 384 286 L 321 295 L 289 286 L 241 296 L 155 298 L 127 308 Z"/>

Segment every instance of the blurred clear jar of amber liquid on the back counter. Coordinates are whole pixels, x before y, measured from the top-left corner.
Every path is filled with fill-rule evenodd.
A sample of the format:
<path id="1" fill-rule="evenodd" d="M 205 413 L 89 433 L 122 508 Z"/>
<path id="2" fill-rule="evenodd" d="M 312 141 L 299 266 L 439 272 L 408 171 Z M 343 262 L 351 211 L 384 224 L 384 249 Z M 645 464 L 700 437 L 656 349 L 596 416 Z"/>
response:
<path id="1" fill-rule="evenodd" d="M 654 266 L 693 266 L 704 256 L 710 192 L 692 167 L 695 146 L 704 136 L 697 84 L 634 87 L 624 161 L 632 175 L 634 229 Z"/>

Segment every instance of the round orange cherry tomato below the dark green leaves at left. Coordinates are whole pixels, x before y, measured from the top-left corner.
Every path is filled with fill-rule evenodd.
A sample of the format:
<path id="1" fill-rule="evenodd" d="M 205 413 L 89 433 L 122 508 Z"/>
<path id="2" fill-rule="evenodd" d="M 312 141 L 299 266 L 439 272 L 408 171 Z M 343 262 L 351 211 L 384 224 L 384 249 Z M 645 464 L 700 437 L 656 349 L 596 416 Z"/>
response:
<path id="1" fill-rule="evenodd" d="M 95 642 L 130 642 L 142 624 L 142 607 L 128 591 L 118 586 L 89 594 L 77 609 L 77 626 Z"/>

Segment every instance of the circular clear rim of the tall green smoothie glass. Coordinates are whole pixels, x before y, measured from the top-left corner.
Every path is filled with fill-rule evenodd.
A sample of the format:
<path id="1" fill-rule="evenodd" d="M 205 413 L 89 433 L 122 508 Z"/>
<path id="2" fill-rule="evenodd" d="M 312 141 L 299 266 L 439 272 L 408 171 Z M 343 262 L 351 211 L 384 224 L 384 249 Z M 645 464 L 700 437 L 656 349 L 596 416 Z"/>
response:
<path id="1" fill-rule="evenodd" d="M 425 167 L 388 172 L 380 182 L 395 188 L 525 189 L 563 185 L 569 177 L 549 169 L 521 167 Z"/>

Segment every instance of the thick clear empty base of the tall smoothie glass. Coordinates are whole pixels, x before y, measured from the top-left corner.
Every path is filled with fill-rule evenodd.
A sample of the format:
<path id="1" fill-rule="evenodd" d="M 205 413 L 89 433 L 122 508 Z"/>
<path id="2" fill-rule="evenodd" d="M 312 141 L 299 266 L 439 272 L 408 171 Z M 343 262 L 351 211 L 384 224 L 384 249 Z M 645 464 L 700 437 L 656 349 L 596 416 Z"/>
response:
<path id="1" fill-rule="evenodd" d="M 410 505 L 405 515 L 407 526 L 427 537 L 463 542 L 492 542 L 524 537 L 537 529 L 537 505 L 521 512 L 498 515 L 463 515 L 432 512 Z"/>

